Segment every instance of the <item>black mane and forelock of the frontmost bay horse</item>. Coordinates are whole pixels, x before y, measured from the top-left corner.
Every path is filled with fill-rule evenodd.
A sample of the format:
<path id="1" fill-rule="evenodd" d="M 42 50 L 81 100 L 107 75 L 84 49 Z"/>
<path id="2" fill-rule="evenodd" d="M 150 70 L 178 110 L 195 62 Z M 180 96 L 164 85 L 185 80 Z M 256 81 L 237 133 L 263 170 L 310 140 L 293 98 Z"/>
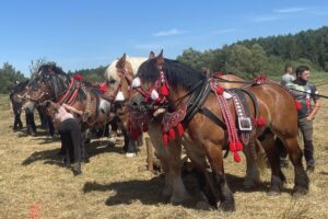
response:
<path id="1" fill-rule="evenodd" d="M 169 87 L 177 89 L 181 87 L 190 91 L 195 84 L 204 80 L 206 76 L 183 62 L 172 59 L 164 59 L 163 71 L 168 81 Z M 154 83 L 160 76 L 156 60 L 150 59 L 143 62 L 137 73 L 141 81 Z"/>

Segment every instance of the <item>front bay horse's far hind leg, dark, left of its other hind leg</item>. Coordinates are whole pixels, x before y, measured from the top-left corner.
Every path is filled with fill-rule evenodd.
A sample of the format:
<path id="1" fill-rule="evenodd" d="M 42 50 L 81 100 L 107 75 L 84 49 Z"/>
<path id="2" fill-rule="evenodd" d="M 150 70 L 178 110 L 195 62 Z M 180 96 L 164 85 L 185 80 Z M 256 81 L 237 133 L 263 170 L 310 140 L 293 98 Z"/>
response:
<path id="1" fill-rule="evenodd" d="M 285 182 L 285 177 L 280 169 L 280 151 L 276 146 L 274 136 L 271 131 L 265 132 L 260 137 L 260 141 L 265 146 L 265 151 L 271 166 L 271 185 L 268 195 L 278 195 Z"/>

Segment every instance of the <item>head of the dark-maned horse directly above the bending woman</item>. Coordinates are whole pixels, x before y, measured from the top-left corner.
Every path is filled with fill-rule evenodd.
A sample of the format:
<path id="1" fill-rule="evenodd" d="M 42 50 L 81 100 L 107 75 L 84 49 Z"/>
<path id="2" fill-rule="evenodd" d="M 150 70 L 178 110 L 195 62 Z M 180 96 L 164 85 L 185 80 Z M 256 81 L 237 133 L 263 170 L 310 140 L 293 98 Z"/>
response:
<path id="1" fill-rule="evenodd" d="M 34 102 L 58 101 L 70 85 L 70 77 L 56 65 L 43 65 L 27 85 L 26 99 Z"/>

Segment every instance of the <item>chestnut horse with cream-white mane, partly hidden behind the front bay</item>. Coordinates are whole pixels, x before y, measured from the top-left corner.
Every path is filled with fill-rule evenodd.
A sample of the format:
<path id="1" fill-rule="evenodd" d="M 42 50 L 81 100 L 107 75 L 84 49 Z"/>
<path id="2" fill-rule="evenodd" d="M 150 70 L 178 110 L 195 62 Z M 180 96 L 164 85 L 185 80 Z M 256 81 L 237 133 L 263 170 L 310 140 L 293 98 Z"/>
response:
<path id="1" fill-rule="evenodd" d="M 142 141 L 140 139 L 131 139 L 129 131 L 127 131 L 129 113 L 126 111 L 126 105 L 130 95 L 130 82 L 137 73 L 139 66 L 147 58 L 143 57 L 129 57 L 124 54 L 108 66 L 105 71 L 107 82 L 104 84 L 105 87 L 101 88 L 104 92 L 103 96 L 112 103 L 114 108 L 116 116 L 114 122 L 117 123 L 125 136 L 124 150 L 127 152 L 127 158 L 136 155 L 137 145 Z M 115 138 L 113 140 L 115 141 Z"/>

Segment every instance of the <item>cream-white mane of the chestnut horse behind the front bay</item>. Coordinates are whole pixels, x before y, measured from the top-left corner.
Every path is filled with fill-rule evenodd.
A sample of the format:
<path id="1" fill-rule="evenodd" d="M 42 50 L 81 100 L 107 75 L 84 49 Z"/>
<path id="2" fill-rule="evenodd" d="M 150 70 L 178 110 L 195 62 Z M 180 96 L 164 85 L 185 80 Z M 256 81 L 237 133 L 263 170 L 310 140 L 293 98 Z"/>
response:
<path id="1" fill-rule="evenodd" d="M 147 58 L 144 57 L 126 57 L 126 61 L 129 61 L 133 73 L 136 76 L 138 68 L 140 67 L 140 65 L 145 61 Z M 108 80 L 110 80 L 110 78 L 113 78 L 114 80 L 118 80 L 118 74 L 117 74 L 117 69 L 116 69 L 116 64 L 117 64 L 118 59 L 112 61 L 112 64 L 107 67 L 106 71 L 105 71 L 105 76 Z"/>

